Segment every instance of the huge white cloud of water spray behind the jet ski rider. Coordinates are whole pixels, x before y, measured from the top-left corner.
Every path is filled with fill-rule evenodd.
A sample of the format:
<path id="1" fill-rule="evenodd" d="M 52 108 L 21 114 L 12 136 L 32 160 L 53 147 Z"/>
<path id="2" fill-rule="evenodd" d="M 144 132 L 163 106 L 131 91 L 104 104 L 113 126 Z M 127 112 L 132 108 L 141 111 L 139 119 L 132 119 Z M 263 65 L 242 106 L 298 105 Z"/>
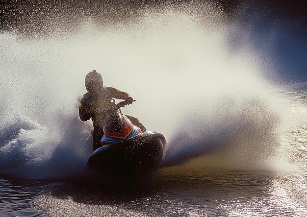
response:
<path id="1" fill-rule="evenodd" d="M 237 169 L 272 163 L 279 98 L 253 50 L 233 53 L 226 38 L 225 26 L 182 13 L 82 24 L 66 37 L 0 34 L 0 172 L 51 178 L 85 168 L 91 123 L 78 120 L 77 98 L 93 69 L 137 100 L 124 113 L 166 136 L 164 165 L 212 152 Z"/>

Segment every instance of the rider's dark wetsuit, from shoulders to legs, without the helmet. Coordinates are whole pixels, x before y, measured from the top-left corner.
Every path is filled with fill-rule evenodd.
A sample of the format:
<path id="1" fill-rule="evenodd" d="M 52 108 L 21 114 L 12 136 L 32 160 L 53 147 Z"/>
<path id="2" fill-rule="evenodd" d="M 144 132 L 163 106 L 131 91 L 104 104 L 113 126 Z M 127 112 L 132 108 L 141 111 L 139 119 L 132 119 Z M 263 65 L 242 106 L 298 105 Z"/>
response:
<path id="1" fill-rule="evenodd" d="M 96 150 L 101 146 L 101 139 L 103 136 L 103 122 L 107 116 L 107 109 L 114 103 L 112 98 L 126 100 L 130 95 L 126 92 L 119 91 L 113 87 L 103 87 L 99 94 L 92 94 L 87 92 L 80 100 L 79 105 L 79 117 L 81 121 L 93 121 L 93 149 Z M 146 131 L 146 128 L 137 118 L 128 116 L 128 119 L 136 126 L 138 126 L 142 132 Z"/>

